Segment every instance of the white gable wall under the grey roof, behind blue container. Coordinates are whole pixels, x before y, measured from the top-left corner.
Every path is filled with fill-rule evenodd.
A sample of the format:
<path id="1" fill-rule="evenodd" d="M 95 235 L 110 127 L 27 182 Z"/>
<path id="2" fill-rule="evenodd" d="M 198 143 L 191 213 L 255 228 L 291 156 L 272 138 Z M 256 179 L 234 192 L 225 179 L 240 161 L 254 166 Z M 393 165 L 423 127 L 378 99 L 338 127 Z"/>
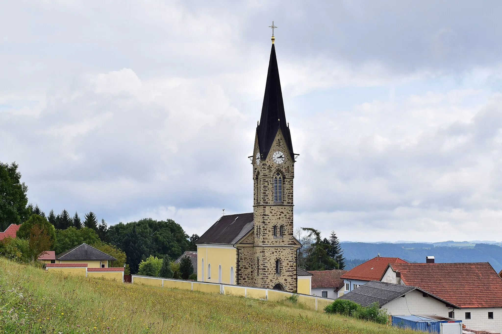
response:
<path id="1" fill-rule="evenodd" d="M 451 309 L 437 299 L 424 297 L 422 292 L 417 290 L 388 302 L 382 308 L 387 308 L 392 315 L 435 314 L 441 316 L 448 316 L 448 310 Z"/>

